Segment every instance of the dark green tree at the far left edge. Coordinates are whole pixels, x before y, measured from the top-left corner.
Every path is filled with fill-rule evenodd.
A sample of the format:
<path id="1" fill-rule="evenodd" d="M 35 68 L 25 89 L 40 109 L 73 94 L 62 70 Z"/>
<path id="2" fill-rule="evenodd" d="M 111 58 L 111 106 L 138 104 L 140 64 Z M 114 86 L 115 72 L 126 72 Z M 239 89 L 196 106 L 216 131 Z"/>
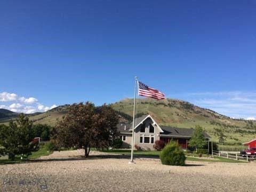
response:
<path id="1" fill-rule="evenodd" d="M 0 146 L 5 148 L 5 153 L 10 159 L 14 160 L 15 155 L 29 155 L 35 150 L 31 142 L 34 138 L 31 127 L 32 123 L 28 117 L 21 114 L 15 122 L 11 121 L 9 126 L 0 129 Z"/>

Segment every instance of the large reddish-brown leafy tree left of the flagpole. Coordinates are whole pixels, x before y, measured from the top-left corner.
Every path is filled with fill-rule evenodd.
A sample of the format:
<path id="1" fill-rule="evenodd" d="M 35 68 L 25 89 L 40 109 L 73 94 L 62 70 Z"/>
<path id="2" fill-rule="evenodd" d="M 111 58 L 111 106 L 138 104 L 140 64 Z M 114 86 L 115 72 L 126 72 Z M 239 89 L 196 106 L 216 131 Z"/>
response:
<path id="1" fill-rule="evenodd" d="M 77 147 L 89 156 L 91 147 L 106 148 L 113 144 L 117 135 L 118 116 L 115 111 L 103 105 L 74 103 L 68 114 L 62 117 L 53 129 L 52 141 L 59 147 Z"/>

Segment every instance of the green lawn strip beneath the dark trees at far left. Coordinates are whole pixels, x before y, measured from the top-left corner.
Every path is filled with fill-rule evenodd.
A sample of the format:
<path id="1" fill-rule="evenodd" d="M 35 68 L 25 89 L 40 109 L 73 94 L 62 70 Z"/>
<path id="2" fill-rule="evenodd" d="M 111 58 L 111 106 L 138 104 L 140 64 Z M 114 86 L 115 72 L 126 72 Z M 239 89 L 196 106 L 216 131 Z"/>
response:
<path id="1" fill-rule="evenodd" d="M 27 159 L 20 159 L 20 155 L 15 156 L 15 160 L 11 161 L 10 159 L 0 159 L 0 164 L 13 164 L 13 163 L 25 163 L 27 160 L 36 159 L 41 156 L 50 155 L 53 151 L 47 151 L 45 146 L 42 146 L 38 151 L 32 152 Z"/>

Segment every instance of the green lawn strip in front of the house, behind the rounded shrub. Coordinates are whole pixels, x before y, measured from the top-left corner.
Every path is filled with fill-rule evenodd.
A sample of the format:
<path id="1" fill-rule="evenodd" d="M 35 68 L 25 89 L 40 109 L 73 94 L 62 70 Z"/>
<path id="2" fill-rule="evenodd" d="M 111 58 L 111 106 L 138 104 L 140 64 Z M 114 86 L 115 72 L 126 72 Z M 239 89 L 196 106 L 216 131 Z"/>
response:
<path id="1" fill-rule="evenodd" d="M 112 150 L 103 150 L 106 153 L 114 153 L 114 154 L 124 154 L 130 155 L 131 150 L 126 149 L 112 149 Z M 148 156 L 148 157 L 159 157 L 161 151 L 137 151 L 134 150 L 134 155 L 136 156 Z M 192 157 L 196 156 L 194 154 L 186 154 L 186 159 L 188 161 L 197 161 L 197 162 L 226 162 L 226 163 L 246 163 L 244 161 L 236 161 L 235 159 L 228 159 L 223 157 L 214 157 L 212 159 L 204 159 L 199 157 Z M 208 155 L 203 155 L 203 157 L 207 157 Z"/>

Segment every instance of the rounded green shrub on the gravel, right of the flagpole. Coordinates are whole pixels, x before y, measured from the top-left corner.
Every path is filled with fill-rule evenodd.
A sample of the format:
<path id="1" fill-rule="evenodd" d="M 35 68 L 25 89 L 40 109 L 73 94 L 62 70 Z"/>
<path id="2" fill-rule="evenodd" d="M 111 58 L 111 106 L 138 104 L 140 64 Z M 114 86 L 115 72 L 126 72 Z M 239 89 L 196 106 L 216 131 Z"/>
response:
<path id="1" fill-rule="evenodd" d="M 186 156 L 176 142 L 171 141 L 160 153 L 160 159 L 164 165 L 185 165 Z"/>

